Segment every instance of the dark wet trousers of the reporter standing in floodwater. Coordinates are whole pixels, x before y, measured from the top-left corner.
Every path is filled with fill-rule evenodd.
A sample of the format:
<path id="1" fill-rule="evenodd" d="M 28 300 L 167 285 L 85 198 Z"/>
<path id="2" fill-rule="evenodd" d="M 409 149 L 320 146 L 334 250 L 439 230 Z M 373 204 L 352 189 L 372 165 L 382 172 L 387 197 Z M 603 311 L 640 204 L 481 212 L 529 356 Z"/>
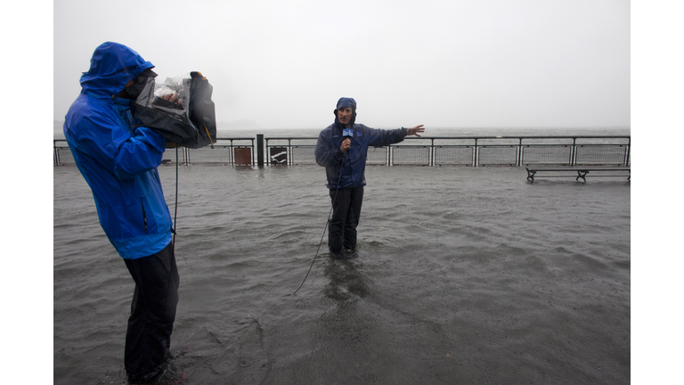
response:
<path id="1" fill-rule="evenodd" d="M 363 186 L 330 190 L 330 200 L 332 218 L 328 222 L 328 248 L 330 252 L 339 252 L 343 247 L 354 250 L 356 226 L 359 225 L 363 203 Z"/>

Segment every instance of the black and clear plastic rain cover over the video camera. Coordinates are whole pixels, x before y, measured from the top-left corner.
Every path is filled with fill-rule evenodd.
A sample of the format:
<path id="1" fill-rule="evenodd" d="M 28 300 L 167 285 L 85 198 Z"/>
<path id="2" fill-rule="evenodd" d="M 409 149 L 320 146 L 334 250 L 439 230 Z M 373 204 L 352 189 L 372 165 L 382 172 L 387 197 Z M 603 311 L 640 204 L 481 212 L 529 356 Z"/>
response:
<path id="1" fill-rule="evenodd" d="M 191 72 L 157 83 L 147 78 L 134 102 L 133 114 L 140 127 L 152 128 L 168 142 L 199 148 L 216 142 L 216 111 L 211 94 L 214 88 L 199 72 Z M 177 101 L 165 99 L 176 94 Z"/>

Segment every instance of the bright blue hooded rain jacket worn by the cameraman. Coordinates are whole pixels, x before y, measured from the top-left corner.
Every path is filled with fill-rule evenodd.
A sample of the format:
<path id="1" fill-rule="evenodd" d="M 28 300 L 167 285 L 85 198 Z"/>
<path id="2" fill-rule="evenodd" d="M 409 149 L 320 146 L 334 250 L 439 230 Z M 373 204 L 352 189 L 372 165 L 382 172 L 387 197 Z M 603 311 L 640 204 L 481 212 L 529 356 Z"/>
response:
<path id="1" fill-rule="evenodd" d="M 102 229 L 123 258 L 150 256 L 172 240 L 157 171 L 166 139 L 150 128 L 135 128 L 131 101 L 116 96 L 128 80 L 152 67 L 126 45 L 100 45 L 64 122 L 69 149 L 93 190 Z"/>

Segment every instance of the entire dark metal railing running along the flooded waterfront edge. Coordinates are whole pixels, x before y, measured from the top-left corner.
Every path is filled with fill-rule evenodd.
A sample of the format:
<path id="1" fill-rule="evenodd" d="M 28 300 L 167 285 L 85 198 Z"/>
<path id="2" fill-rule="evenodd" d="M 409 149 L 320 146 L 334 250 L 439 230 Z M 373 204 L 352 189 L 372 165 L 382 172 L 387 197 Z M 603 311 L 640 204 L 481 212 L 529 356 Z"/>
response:
<path id="1" fill-rule="evenodd" d="M 255 138 L 216 138 L 213 148 L 181 147 L 177 157 L 184 165 L 316 164 L 316 137 L 264 138 L 257 135 L 256 139 L 255 146 Z M 386 166 L 629 166 L 630 151 L 629 135 L 423 136 L 407 137 L 402 143 L 386 147 L 370 147 L 366 163 Z M 163 161 L 175 163 L 175 157 L 176 152 L 167 149 Z M 66 141 L 54 140 L 54 164 L 72 162 Z"/>

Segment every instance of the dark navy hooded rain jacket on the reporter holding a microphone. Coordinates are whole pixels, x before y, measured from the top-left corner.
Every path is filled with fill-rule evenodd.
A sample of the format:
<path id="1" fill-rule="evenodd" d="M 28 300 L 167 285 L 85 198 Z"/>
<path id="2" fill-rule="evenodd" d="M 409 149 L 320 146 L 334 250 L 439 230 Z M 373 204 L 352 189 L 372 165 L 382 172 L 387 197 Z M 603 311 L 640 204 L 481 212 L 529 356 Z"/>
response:
<path id="1" fill-rule="evenodd" d="M 352 109 L 352 119 L 346 126 L 343 126 L 339 122 L 337 114 L 338 109 L 346 107 Z M 328 183 L 325 185 L 332 190 L 366 185 L 364 173 L 368 147 L 402 142 L 403 138 L 406 137 L 407 129 L 383 130 L 355 124 L 356 101 L 352 98 L 339 99 L 338 108 L 334 113 L 335 123 L 323 129 L 318 135 L 314 152 L 316 163 L 325 167 L 325 173 L 328 177 Z M 345 137 L 342 136 L 342 130 L 345 128 L 352 128 L 354 131 L 351 146 L 346 154 L 339 149 L 345 140 Z"/>

